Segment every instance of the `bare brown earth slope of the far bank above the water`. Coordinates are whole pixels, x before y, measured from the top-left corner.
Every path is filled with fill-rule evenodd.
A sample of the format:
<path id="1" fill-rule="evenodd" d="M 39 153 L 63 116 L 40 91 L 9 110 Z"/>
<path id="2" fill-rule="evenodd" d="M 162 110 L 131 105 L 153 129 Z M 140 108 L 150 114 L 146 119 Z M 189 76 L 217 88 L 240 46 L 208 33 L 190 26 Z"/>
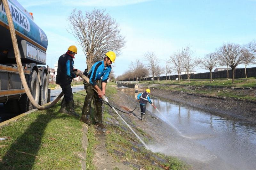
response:
<path id="1" fill-rule="evenodd" d="M 236 100 L 228 97 L 218 97 L 217 95 L 207 95 L 198 93 L 188 93 L 183 91 L 170 91 L 158 88 L 160 85 L 147 85 L 151 87 L 152 95 L 162 97 L 165 99 L 173 100 L 183 104 L 187 104 L 192 107 L 203 109 L 211 113 L 221 114 L 225 116 L 231 116 L 237 119 L 241 119 L 247 122 L 255 123 L 255 102 Z M 161 85 L 163 86 L 163 85 Z M 170 86 L 170 85 L 168 85 Z M 171 85 L 173 88 L 177 85 Z M 179 86 L 180 87 L 180 86 Z M 186 86 L 187 90 L 195 90 L 198 87 Z M 214 90 L 218 91 L 232 91 L 236 94 L 246 94 L 255 97 L 255 89 L 230 89 L 230 88 L 213 88 L 213 87 L 201 87 L 202 90 Z"/>

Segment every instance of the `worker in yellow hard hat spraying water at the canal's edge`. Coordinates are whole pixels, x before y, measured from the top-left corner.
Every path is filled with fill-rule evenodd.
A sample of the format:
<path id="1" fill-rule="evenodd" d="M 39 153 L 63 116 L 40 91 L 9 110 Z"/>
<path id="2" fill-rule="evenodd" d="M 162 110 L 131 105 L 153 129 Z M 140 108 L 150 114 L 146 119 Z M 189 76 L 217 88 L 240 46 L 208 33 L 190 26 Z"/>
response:
<path id="1" fill-rule="evenodd" d="M 141 110 L 141 121 L 145 119 L 145 112 L 146 112 L 146 104 L 147 102 L 150 103 L 153 107 L 154 104 L 151 102 L 149 97 L 150 89 L 146 89 L 145 92 L 138 94 L 137 99 L 140 101 L 140 110 Z"/>

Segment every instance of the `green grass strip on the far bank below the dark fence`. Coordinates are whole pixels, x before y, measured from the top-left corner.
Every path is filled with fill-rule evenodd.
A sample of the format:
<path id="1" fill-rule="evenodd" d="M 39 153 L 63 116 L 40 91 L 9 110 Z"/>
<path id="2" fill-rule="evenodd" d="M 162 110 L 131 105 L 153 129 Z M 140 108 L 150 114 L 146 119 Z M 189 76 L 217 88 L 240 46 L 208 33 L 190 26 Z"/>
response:
<path id="1" fill-rule="evenodd" d="M 148 81 L 140 83 L 142 86 L 151 84 L 158 84 L 154 86 L 157 89 L 164 89 L 174 92 L 186 92 L 188 94 L 198 94 L 211 97 L 229 97 L 238 100 L 247 100 L 250 102 L 256 101 L 255 97 L 255 78 L 247 78 L 236 80 L 232 84 L 232 80 L 215 80 L 210 83 L 209 80 L 193 80 L 188 83 L 187 80 L 162 80 L 162 81 Z M 243 89 L 245 88 L 245 89 Z M 252 89 L 250 89 L 252 88 Z"/>

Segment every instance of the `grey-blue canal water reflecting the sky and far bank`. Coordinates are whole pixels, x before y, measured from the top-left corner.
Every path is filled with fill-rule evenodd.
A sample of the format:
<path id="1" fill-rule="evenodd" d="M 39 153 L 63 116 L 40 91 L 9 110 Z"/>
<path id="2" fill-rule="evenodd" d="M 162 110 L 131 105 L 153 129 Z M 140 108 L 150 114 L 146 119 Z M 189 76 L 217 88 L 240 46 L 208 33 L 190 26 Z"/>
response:
<path id="1" fill-rule="evenodd" d="M 126 92 L 126 94 L 128 93 Z M 134 92 L 130 92 L 128 95 L 137 97 Z M 151 96 L 151 99 L 161 114 L 150 105 L 147 106 L 147 109 L 168 123 L 180 137 L 203 146 L 204 149 L 217 155 L 232 168 L 256 169 L 255 124 L 207 113 L 154 96 Z M 193 148 L 194 146 L 186 145 L 184 147 Z M 170 144 L 166 148 L 162 152 L 175 155 L 173 150 L 177 150 L 177 148 L 171 147 Z M 180 155 L 181 153 L 176 154 Z M 219 166 L 219 168 L 224 167 Z M 216 169 L 218 168 L 216 167 Z"/>

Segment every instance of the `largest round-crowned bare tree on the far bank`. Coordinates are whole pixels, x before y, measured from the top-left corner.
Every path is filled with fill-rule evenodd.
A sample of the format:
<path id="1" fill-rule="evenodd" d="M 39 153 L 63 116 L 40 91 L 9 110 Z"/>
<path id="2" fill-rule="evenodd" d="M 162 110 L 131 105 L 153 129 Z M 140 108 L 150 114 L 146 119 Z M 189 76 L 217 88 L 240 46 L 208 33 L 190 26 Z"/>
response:
<path id="1" fill-rule="evenodd" d="M 244 61 L 244 47 L 239 44 L 224 44 L 217 50 L 220 60 L 232 69 L 232 83 L 235 83 L 235 69 Z"/>

